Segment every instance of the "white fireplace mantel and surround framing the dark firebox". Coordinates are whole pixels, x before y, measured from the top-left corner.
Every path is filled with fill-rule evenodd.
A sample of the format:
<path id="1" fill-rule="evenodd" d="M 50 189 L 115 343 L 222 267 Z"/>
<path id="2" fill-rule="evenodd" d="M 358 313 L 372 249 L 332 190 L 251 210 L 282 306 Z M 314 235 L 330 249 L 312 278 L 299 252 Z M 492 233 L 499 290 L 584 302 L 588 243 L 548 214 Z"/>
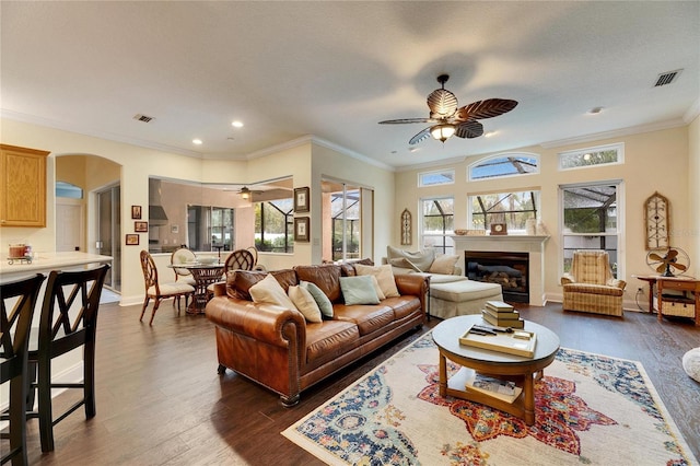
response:
<path id="1" fill-rule="evenodd" d="M 460 260 L 464 260 L 465 251 L 529 253 L 529 304 L 545 305 L 545 243 L 549 236 L 452 235 L 451 237 L 455 243 L 455 253 L 460 256 Z"/>

